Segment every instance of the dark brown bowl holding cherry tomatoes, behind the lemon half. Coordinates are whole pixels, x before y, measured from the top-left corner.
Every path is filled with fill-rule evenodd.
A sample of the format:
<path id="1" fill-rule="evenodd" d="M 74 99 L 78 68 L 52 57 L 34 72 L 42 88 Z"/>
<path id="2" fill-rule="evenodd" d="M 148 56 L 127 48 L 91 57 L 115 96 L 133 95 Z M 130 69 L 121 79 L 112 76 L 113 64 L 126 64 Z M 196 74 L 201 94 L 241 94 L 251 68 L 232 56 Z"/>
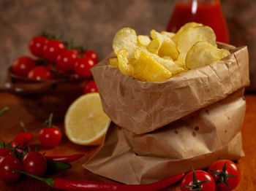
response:
<path id="1" fill-rule="evenodd" d="M 83 95 L 87 81 L 75 75 L 68 79 L 37 81 L 18 77 L 9 69 L 4 90 L 14 94 L 19 104 L 37 119 L 46 120 L 53 113 L 53 120 L 63 121 L 72 101 Z"/>

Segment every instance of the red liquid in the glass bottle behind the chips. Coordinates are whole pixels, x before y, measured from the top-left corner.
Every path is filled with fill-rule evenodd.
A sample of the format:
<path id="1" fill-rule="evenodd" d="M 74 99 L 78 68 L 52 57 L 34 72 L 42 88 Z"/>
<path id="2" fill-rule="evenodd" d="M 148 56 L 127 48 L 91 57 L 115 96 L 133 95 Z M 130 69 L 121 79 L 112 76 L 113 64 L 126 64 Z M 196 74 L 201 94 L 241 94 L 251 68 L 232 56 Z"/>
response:
<path id="1" fill-rule="evenodd" d="M 217 36 L 217 42 L 229 43 L 227 23 L 219 0 L 176 2 L 167 31 L 176 32 L 185 23 L 192 21 L 210 26 Z"/>

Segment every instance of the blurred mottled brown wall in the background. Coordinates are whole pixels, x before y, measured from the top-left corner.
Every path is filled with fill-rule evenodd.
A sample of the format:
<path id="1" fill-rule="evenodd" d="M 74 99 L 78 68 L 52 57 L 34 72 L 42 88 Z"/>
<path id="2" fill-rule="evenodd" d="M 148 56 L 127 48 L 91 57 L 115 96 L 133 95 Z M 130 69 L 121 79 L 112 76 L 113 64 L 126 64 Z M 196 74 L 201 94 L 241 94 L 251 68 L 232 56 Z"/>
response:
<path id="1" fill-rule="evenodd" d="M 74 44 L 95 50 L 102 60 L 112 52 L 118 29 L 129 26 L 138 34 L 164 31 L 173 0 L 0 0 L 0 87 L 7 68 L 29 55 L 29 40 L 41 31 L 63 34 Z M 256 91 L 256 1 L 222 0 L 230 44 L 248 46 L 251 86 Z M 213 15 L 214 17 L 214 15 Z"/>

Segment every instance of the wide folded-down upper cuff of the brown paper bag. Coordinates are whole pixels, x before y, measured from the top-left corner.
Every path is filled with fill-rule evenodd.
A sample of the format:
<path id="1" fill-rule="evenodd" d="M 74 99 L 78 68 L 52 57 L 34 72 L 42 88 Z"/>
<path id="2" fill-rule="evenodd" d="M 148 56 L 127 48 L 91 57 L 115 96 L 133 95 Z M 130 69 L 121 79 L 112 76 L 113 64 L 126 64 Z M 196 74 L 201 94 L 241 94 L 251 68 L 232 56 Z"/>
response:
<path id="1" fill-rule="evenodd" d="M 110 66 L 108 58 L 115 57 L 110 55 L 91 69 L 104 112 L 122 128 L 147 133 L 249 85 L 247 48 L 219 47 L 233 53 L 222 61 L 154 83 L 121 74 Z"/>

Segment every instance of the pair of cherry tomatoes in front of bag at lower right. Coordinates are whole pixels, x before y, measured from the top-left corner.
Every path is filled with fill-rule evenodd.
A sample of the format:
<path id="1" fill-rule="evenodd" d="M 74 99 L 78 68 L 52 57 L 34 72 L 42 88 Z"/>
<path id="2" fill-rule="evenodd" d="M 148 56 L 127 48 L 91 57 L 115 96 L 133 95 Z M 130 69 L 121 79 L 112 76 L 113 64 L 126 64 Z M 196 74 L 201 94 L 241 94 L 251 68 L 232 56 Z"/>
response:
<path id="1" fill-rule="evenodd" d="M 241 179 L 241 172 L 230 160 L 218 160 L 208 171 L 194 171 L 186 174 L 181 180 L 181 191 L 228 191 L 235 189 Z"/>

